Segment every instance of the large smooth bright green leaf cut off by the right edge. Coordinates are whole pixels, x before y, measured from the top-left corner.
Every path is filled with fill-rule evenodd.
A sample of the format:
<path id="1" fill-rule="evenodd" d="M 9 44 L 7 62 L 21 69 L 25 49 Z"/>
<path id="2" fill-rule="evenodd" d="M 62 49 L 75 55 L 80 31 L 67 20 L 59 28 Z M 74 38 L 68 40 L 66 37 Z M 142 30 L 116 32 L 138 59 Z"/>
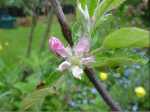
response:
<path id="1" fill-rule="evenodd" d="M 130 27 L 121 28 L 105 37 L 102 47 L 104 48 L 139 48 L 149 47 L 149 31 Z"/>

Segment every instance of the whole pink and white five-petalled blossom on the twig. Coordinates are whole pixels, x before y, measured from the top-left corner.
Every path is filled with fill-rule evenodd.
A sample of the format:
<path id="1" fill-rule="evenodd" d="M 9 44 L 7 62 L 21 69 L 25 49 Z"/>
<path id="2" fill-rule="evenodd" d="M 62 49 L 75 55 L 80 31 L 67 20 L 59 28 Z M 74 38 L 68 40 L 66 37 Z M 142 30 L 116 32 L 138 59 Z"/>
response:
<path id="1" fill-rule="evenodd" d="M 75 78 L 81 79 L 83 67 L 94 62 L 94 57 L 89 54 L 90 41 L 87 37 L 80 38 L 73 48 L 65 48 L 58 38 L 51 37 L 49 47 L 56 55 L 64 58 L 58 70 L 70 70 Z"/>

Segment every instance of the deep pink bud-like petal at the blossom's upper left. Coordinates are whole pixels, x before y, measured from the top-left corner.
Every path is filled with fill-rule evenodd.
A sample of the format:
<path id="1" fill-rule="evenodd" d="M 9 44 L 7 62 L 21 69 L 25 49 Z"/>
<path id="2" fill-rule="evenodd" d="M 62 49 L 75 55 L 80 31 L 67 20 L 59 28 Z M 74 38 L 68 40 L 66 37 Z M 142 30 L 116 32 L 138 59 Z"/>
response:
<path id="1" fill-rule="evenodd" d="M 60 55 L 62 57 L 67 57 L 67 51 L 58 38 L 51 37 L 49 39 L 49 47 L 57 55 Z"/>

